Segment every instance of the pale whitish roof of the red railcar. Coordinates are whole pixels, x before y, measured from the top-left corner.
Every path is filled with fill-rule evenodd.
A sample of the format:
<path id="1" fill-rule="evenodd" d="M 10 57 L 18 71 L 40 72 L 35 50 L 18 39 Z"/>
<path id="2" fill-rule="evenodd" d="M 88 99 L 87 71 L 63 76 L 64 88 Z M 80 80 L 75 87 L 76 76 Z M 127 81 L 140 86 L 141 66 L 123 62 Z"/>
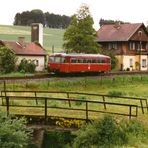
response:
<path id="1" fill-rule="evenodd" d="M 63 57 L 103 57 L 103 58 L 110 58 L 109 56 L 103 55 L 103 54 L 77 54 L 77 53 L 55 53 L 50 56 L 63 56 Z"/>

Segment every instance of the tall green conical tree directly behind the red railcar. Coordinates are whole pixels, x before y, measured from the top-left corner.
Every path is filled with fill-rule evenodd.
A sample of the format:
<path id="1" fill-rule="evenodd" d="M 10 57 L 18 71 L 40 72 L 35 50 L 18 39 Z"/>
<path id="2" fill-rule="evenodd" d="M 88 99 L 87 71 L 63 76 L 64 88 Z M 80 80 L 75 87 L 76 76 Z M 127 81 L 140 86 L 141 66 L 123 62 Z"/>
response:
<path id="1" fill-rule="evenodd" d="M 63 47 L 66 52 L 98 53 L 99 44 L 95 42 L 96 31 L 89 7 L 83 4 L 78 13 L 71 18 L 70 26 L 64 33 Z"/>

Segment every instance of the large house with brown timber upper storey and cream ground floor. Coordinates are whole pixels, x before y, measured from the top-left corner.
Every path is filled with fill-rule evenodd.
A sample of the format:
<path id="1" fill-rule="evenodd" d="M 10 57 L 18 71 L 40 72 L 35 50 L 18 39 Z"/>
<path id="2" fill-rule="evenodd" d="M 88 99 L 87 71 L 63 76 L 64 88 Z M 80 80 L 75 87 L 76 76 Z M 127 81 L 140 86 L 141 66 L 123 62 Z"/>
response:
<path id="1" fill-rule="evenodd" d="M 102 25 L 97 36 L 102 49 L 116 55 L 119 70 L 148 70 L 148 32 L 143 23 Z"/>

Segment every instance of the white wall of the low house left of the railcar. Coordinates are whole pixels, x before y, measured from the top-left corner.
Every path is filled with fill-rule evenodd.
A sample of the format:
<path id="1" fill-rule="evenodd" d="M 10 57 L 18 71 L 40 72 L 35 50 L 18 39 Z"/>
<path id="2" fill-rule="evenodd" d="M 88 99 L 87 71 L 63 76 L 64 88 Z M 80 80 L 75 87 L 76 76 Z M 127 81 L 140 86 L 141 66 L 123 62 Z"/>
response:
<path id="1" fill-rule="evenodd" d="M 36 71 L 42 71 L 45 69 L 45 57 L 44 56 L 17 56 L 17 65 L 21 62 L 22 59 L 26 60 L 38 60 L 38 66 L 36 67 Z"/>

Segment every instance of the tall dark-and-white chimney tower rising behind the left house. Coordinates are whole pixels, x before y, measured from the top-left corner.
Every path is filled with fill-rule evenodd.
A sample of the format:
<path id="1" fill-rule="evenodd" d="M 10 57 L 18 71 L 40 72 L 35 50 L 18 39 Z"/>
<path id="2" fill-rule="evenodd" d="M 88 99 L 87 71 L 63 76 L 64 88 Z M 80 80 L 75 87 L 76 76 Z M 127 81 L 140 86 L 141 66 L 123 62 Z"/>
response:
<path id="1" fill-rule="evenodd" d="M 38 42 L 43 46 L 43 25 L 41 23 L 31 24 L 31 42 Z"/>

